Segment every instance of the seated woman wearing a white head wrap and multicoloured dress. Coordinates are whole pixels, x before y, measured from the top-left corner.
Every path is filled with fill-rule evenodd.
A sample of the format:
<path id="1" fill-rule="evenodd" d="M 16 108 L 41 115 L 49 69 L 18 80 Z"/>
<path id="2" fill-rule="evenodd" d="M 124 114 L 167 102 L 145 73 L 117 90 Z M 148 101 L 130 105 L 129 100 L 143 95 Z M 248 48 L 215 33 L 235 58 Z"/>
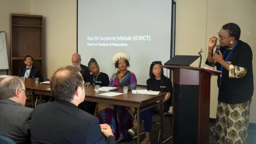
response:
<path id="1" fill-rule="evenodd" d="M 134 73 L 127 70 L 130 67 L 130 56 L 126 53 L 116 53 L 112 58 L 112 64 L 115 65 L 117 73 L 110 78 L 109 86 L 122 88 L 128 86 L 129 90 L 135 90 L 137 87 L 137 79 Z M 131 138 L 128 130 L 132 127 L 131 115 L 134 115 L 134 107 L 115 106 L 116 124 L 118 128 L 119 140 Z"/>

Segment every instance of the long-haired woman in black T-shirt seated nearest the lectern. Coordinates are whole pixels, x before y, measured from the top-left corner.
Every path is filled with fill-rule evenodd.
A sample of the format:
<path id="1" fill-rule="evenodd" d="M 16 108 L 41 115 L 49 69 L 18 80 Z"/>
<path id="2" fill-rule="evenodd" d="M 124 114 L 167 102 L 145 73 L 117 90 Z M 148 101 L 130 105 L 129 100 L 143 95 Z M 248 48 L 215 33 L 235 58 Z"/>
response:
<path id="1" fill-rule="evenodd" d="M 154 61 L 150 65 L 149 76 L 150 78 L 147 79 L 147 90 L 152 91 L 163 91 L 167 92 L 164 98 L 164 112 L 168 112 L 171 106 L 171 92 L 173 91 L 173 86 L 171 84 L 171 80 L 167 78 L 163 74 L 163 68 L 161 68 L 161 61 Z M 158 108 L 159 109 L 159 108 Z M 144 130 L 146 133 L 145 139 L 141 142 L 142 144 L 150 143 L 150 130 L 151 130 L 151 123 L 152 123 L 152 113 L 153 110 L 145 110 L 140 113 L 140 122 L 144 120 Z M 135 136 L 135 132 L 137 130 L 137 121 L 135 122 L 134 127 L 132 127 L 128 132 Z"/>

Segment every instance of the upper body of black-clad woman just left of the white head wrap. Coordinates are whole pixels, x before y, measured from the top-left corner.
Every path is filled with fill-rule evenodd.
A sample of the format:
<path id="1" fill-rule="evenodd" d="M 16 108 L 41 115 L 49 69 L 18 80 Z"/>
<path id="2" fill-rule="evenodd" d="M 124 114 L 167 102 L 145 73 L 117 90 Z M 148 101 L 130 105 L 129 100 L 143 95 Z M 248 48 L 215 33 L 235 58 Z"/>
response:
<path id="1" fill-rule="evenodd" d="M 85 82 L 91 85 L 109 86 L 109 76 L 100 72 L 100 66 L 94 58 L 88 63 L 90 71 L 85 72 Z"/>

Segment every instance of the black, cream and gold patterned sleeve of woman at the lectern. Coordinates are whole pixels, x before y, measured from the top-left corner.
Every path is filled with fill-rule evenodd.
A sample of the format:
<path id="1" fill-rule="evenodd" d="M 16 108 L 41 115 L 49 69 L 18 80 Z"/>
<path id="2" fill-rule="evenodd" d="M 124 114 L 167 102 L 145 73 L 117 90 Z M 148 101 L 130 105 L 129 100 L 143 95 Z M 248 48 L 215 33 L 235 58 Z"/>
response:
<path id="1" fill-rule="evenodd" d="M 237 65 L 229 65 L 229 78 L 244 78 L 247 74 L 247 69 Z"/>

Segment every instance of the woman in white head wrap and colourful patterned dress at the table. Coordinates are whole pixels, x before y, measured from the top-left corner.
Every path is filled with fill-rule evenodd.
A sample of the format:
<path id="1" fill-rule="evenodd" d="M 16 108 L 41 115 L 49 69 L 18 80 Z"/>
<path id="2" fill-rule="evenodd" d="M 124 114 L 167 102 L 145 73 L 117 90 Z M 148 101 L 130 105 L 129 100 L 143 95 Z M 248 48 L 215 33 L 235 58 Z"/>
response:
<path id="1" fill-rule="evenodd" d="M 112 63 L 115 65 L 115 68 L 118 69 L 118 72 L 111 76 L 109 86 L 115 86 L 117 88 L 128 86 L 129 90 L 136 89 L 136 76 L 134 73 L 127 70 L 130 66 L 129 60 L 130 56 L 126 53 L 116 53 L 113 56 Z M 135 112 L 134 107 L 115 105 L 115 110 L 116 114 L 114 112 L 113 105 L 101 104 L 97 110 L 98 112 L 95 113 L 97 114 L 100 122 L 104 122 L 104 118 L 106 117 L 106 124 L 114 125 L 112 126 L 113 129 L 116 127 L 116 130 L 112 131 L 114 131 L 117 141 L 131 140 L 131 136 L 127 131 L 132 127 L 131 114 L 133 115 Z"/>

